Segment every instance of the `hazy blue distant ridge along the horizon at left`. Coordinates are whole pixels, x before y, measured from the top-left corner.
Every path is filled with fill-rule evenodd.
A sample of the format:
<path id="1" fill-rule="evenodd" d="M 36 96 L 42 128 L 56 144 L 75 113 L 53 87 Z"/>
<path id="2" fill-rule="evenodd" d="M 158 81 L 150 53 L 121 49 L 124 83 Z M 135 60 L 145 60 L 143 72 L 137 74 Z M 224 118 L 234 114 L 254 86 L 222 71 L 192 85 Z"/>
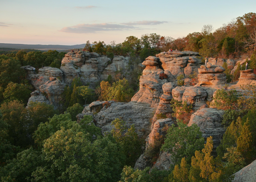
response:
<path id="1" fill-rule="evenodd" d="M 15 48 L 15 49 L 78 49 L 84 48 L 84 44 L 80 45 L 32 45 L 32 44 L 16 44 L 16 43 L 0 43 L 0 47 Z"/>

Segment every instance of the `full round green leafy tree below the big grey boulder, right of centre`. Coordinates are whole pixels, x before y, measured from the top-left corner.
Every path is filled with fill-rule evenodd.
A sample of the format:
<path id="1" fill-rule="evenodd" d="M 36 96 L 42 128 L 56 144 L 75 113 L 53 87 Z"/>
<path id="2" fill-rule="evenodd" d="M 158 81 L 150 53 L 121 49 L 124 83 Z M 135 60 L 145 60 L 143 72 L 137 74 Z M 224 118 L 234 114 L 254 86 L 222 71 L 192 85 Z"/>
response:
<path id="1" fill-rule="evenodd" d="M 162 150 L 171 154 L 171 159 L 174 164 L 179 164 L 183 157 L 190 159 L 196 150 L 203 148 L 204 138 L 196 124 L 187 127 L 186 124 L 178 122 L 178 127 L 173 124 L 167 131 Z"/>

